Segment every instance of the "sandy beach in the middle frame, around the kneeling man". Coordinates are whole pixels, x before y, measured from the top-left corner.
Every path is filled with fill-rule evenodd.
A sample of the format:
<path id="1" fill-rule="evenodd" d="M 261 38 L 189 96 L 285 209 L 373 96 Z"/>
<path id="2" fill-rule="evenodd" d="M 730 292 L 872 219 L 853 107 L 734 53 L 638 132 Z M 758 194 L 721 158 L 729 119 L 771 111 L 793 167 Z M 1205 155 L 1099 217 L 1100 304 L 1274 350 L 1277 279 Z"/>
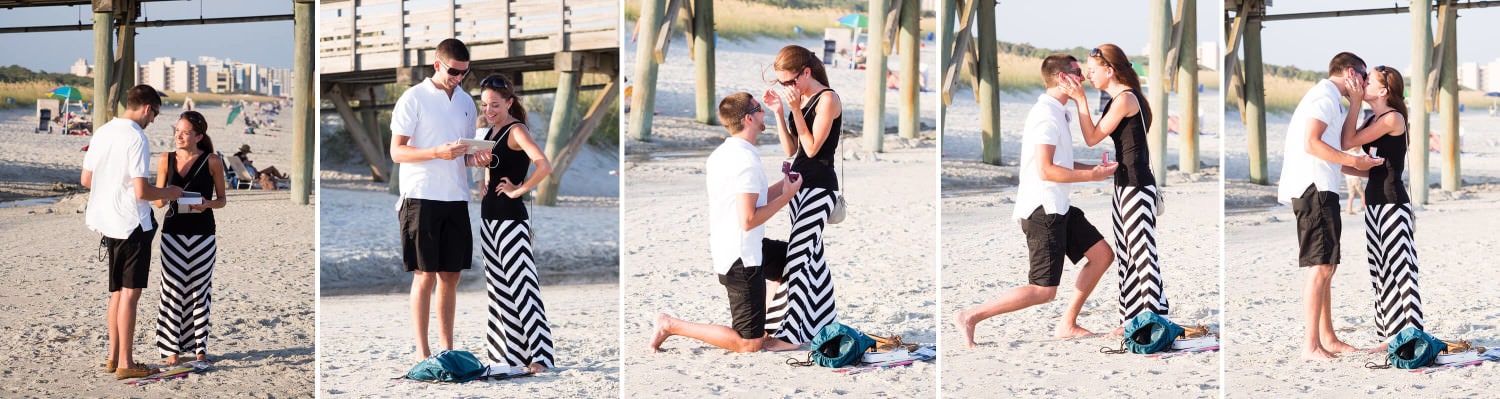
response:
<path id="1" fill-rule="evenodd" d="M 820 48 L 820 42 L 720 40 L 717 94 L 765 90 L 760 69 L 786 44 Z M 633 50 L 634 46 L 630 46 Z M 734 354 L 687 338 L 668 339 L 660 354 L 648 350 L 652 316 L 674 316 L 729 324 L 729 302 L 710 267 L 708 210 L 704 202 L 704 164 L 728 135 L 720 126 L 692 120 L 693 76 L 684 46 L 672 46 L 662 64 L 652 140 L 626 141 L 624 201 L 624 388 L 657 398 L 930 398 L 936 393 L 936 363 L 842 376 L 825 368 L 794 368 L 807 351 Z M 922 51 L 933 57 L 932 44 Z M 633 64 L 633 51 L 622 52 Z M 626 69 L 626 68 L 622 68 Z M 770 74 L 770 72 L 766 72 Z M 766 75 L 770 76 L 770 75 Z M 843 100 L 844 130 L 862 123 L 864 72 L 828 69 Z M 930 82 L 936 81 L 932 76 Z M 888 92 L 886 126 L 894 126 L 896 92 Z M 900 334 L 906 342 L 936 344 L 936 288 L 933 273 L 938 186 L 933 128 L 936 96 L 924 93 L 922 135 L 903 140 L 885 135 L 885 153 L 862 150 L 861 138 L 840 141 L 840 182 L 849 216 L 826 230 L 826 258 L 832 270 L 840 322 L 873 334 Z M 627 118 L 628 120 L 628 118 Z M 784 158 L 776 136 L 759 138 L 768 176 L 778 174 Z M 896 182 L 902 189 L 891 190 Z M 897 219 L 886 216 L 900 214 Z M 789 234 L 786 212 L 771 218 L 766 237 Z"/>

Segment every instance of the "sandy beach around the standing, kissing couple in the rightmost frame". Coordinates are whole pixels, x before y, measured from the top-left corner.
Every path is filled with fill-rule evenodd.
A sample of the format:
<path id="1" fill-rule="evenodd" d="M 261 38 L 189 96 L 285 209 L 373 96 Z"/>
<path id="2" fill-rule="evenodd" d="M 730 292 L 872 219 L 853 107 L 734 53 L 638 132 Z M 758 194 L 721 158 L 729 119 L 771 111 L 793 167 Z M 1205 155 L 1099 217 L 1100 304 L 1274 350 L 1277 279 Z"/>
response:
<path id="1" fill-rule="evenodd" d="M 1270 186 L 1246 183 L 1248 156 L 1245 126 L 1239 116 L 1226 112 L 1228 170 L 1228 237 L 1224 270 L 1234 284 L 1226 290 L 1226 326 L 1238 334 L 1226 336 L 1228 364 L 1226 388 L 1230 398 L 1328 396 L 1358 392 L 1371 398 L 1486 396 L 1500 387 L 1500 366 L 1485 363 L 1432 374 L 1398 369 L 1366 369 L 1366 362 L 1384 363 L 1380 354 L 1344 354 L 1332 362 L 1304 362 L 1298 357 L 1302 338 L 1302 294 L 1306 274 L 1296 267 L 1296 225 L 1288 206 L 1276 204 L 1286 126 L 1290 116 L 1268 116 L 1266 150 Z M 1460 190 L 1436 188 L 1442 158 L 1431 153 L 1428 182 L 1430 204 L 1416 210 L 1416 252 L 1420 264 L 1422 310 L 1426 332 L 1449 340 L 1468 339 L 1474 346 L 1500 345 L 1500 308 L 1492 282 L 1500 270 L 1476 254 L 1494 250 L 1490 237 L 1500 228 L 1488 222 L 1500 218 L 1500 118 L 1484 111 L 1460 116 L 1464 132 Z M 1432 117 L 1437 129 L 1437 117 Z M 1412 171 L 1407 170 L 1410 178 Z M 1347 201 L 1347 192 L 1344 194 Z M 1356 206 L 1358 207 L 1358 206 Z M 1378 344 L 1374 322 L 1374 291 L 1365 261 L 1364 214 L 1344 214 L 1341 238 L 1342 266 L 1334 278 L 1334 328 L 1350 345 L 1371 348 Z M 1252 273 L 1246 273 L 1254 270 Z M 1278 339 L 1280 338 L 1280 339 Z"/>

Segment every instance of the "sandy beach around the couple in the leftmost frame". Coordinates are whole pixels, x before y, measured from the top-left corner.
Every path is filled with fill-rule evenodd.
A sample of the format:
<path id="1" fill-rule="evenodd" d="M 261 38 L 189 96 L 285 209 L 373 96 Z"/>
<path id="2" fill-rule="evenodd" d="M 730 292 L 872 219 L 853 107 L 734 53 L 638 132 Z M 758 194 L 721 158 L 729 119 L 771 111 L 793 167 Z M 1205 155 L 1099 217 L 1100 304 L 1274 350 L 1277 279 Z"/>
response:
<path id="1" fill-rule="evenodd" d="M 254 147 L 260 166 L 291 166 L 291 130 L 258 135 L 228 132 L 228 110 L 204 106 L 216 150 L 230 154 L 240 144 Z M 171 124 L 182 110 L 166 106 L 146 129 L 154 156 L 172 148 Z M 284 123 L 290 116 L 284 116 Z M 213 310 L 208 354 L 214 369 L 186 380 L 126 386 L 102 370 L 108 351 L 105 332 L 106 273 L 96 261 L 99 234 L 84 224 L 86 195 L 76 190 L 88 136 L 32 134 L 32 111 L 0 112 L 0 278 L 24 290 L 0 296 L 0 344 L 8 364 L 0 374 L 0 394 L 20 398 L 82 396 L 246 396 L 312 398 L 315 358 L 314 214 L 294 206 L 286 190 L 226 192 L 228 206 L 216 210 L 219 254 L 213 276 Z M 52 190 L 52 188 L 60 190 Z M 42 188 L 42 189 L 34 189 Z M 63 195 L 58 198 L 58 195 Z M 156 212 L 158 222 L 162 212 Z M 156 354 L 156 309 L 160 294 L 160 237 L 153 242 L 152 279 L 140 300 L 135 357 L 160 366 Z M 32 273 L 50 270 L 48 273 Z"/>

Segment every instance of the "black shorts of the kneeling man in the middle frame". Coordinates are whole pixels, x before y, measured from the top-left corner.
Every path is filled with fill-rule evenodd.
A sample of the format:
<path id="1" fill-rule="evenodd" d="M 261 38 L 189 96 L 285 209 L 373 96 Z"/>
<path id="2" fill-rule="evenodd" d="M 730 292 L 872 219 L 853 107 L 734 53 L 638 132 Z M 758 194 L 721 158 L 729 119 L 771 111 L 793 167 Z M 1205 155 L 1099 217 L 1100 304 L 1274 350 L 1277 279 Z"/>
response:
<path id="1" fill-rule="evenodd" d="M 760 266 L 746 267 L 736 260 L 729 273 L 718 274 L 718 284 L 729 294 L 729 315 L 742 339 L 765 336 L 765 280 L 770 272 L 786 268 L 786 242 L 760 238 Z"/>

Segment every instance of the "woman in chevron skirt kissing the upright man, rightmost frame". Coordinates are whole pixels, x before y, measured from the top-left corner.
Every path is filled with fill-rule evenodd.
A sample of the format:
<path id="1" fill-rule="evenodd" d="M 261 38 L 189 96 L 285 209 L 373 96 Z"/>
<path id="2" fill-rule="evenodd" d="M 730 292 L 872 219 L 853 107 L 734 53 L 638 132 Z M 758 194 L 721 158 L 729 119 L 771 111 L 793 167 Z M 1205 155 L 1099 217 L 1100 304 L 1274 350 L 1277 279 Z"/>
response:
<path id="1" fill-rule="evenodd" d="M 1376 66 L 1370 72 L 1364 99 L 1374 114 L 1358 130 L 1344 134 L 1341 150 L 1362 147 L 1366 154 L 1386 159 L 1368 171 L 1350 166 L 1342 171 L 1370 177 L 1365 186 L 1365 248 L 1376 290 L 1376 333 L 1388 340 L 1407 327 L 1424 328 L 1422 296 L 1418 292 L 1416 219 L 1401 182 L 1410 146 L 1401 93 L 1406 82 L 1394 68 Z M 1358 92 L 1358 87 L 1350 88 Z M 1348 120 L 1358 117 L 1356 112 L 1348 114 Z"/>

